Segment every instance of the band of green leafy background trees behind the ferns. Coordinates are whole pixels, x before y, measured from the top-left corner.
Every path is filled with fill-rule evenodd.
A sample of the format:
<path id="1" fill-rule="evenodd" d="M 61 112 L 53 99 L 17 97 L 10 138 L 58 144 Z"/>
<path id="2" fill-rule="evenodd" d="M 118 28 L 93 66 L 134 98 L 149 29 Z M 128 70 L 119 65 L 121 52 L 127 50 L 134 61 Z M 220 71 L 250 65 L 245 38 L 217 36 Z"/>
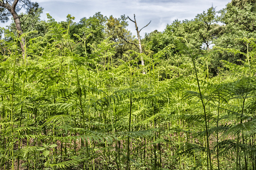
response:
<path id="1" fill-rule="evenodd" d="M 1 9 L 4 11 L 4 8 Z M 241 52 L 246 52 L 246 44 L 236 38 L 255 36 L 255 10 L 255 1 L 253 0 L 232 0 L 227 4 L 225 9 L 220 11 L 216 11 L 214 7 L 210 7 L 207 11 L 196 15 L 193 20 L 174 20 L 173 23 L 166 26 L 163 32 L 155 30 L 145 34 L 145 37 L 142 39 L 143 51 L 150 50 L 157 53 L 167 45 L 174 44 L 176 37 L 182 36 L 186 37 L 190 47 L 198 53 L 208 53 L 208 51 L 212 50 L 213 46 L 234 48 Z M 21 23 L 21 28 L 25 32 L 38 30 L 38 35 L 43 36 L 45 41 L 48 41 L 51 39 L 51 35 L 47 31 L 46 21 L 40 20 L 42 12 L 43 8 L 39 7 L 37 3 L 31 4 L 27 8 L 27 13 L 21 13 L 20 19 L 24 20 Z M 3 14 L 4 12 L 2 12 L 2 16 L 5 16 Z M 7 19 L 4 17 L 1 18 L 2 21 Z M 138 39 L 127 29 L 128 22 L 129 20 L 127 20 L 127 16 L 125 15 L 122 15 L 120 18 L 114 18 L 113 16 L 103 16 L 100 12 L 97 12 L 92 17 L 81 18 L 78 23 L 72 22 L 69 26 L 68 34 L 76 42 L 79 42 L 79 40 L 73 34 L 81 37 L 92 34 L 87 39 L 87 42 L 90 44 L 99 44 L 111 36 L 109 41 L 115 43 L 116 51 L 112 58 L 112 63 L 114 66 L 118 66 L 120 64 L 118 63 L 118 59 L 123 58 L 124 53 L 127 53 L 128 50 L 139 50 L 138 47 L 133 45 L 138 44 Z M 61 21 L 59 23 L 63 28 L 68 28 L 67 21 Z M 8 29 L 11 32 L 15 32 L 17 28 L 14 21 L 8 26 Z M 34 36 L 35 34 L 30 35 L 28 38 Z M 77 54 L 81 56 L 85 55 L 83 52 L 84 44 L 82 42 L 77 43 L 73 48 Z M 90 54 L 91 48 L 87 47 L 86 49 L 87 53 Z M 174 60 L 176 55 L 178 55 L 176 51 L 169 51 L 160 64 L 163 66 L 177 65 L 177 62 Z M 207 59 L 209 74 L 211 76 L 216 75 L 217 68 L 221 66 L 220 60 L 227 60 L 239 64 L 237 60 L 241 59 L 243 59 L 243 55 L 237 54 L 233 56 L 227 53 L 212 54 Z M 175 63 L 172 63 L 173 61 Z"/>

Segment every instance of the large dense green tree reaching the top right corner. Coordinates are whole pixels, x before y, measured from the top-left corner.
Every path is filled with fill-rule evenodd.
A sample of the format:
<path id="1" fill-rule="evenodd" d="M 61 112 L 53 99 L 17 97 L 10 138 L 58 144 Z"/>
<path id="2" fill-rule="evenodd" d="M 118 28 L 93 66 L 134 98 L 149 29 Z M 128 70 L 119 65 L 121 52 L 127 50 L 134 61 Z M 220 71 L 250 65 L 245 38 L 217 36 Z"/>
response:
<path id="1" fill-rule="evenodd" d="M 239 38 L 253 38 L 256 36 L 256 1 L 232 0 L 227 7 L 220 11 L 222 26 L 221 36 L 215 41 L 216 46 L 247 51 L 247 44 Z M 245 59 L 241 54 L 224 53 L 222 60 L 239 64 L 239 60 Z"/>

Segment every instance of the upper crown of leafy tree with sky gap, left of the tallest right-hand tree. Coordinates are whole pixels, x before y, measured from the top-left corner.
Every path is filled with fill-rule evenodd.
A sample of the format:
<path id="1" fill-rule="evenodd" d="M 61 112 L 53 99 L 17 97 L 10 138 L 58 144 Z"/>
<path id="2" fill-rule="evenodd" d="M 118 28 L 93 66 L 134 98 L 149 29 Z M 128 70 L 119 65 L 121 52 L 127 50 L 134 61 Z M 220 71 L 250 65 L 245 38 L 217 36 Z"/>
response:
<path id="1" fill-rule="evenodd" d="M 166 26 L 164 32 L 176 37 L 186 37 L 194 50 L 210 50 L 210 45 L 218 38 L 220 26 L 217 22 L 215 8 L 210 7 L 207 12 L 196 15 L 193 20 L 174 20 L 171 25 Z"/>

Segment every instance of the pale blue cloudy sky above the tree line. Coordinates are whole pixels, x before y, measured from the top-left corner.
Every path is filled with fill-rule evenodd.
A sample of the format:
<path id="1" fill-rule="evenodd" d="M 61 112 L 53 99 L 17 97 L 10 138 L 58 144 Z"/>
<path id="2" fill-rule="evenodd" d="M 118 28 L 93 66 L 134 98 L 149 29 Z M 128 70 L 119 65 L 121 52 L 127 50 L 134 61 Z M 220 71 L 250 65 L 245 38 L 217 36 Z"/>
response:
<path id="1" fill-rule="evenodd" d="M 31 0 L 38 2 L 43 7 L 41 19 L 47 21 L 46 13 L 49 13 L 57 22 L 65 21 L 70 14 L 75 17 L 74 22 L 81 18 L 89 18 L 97 12 L 109 17 L 113 15 L 120 18 L 121 15 L 129 16 L 134 20 L 134 14 L 139 30 L 143 28 L 140 35 L 154 30 L 164 31 L 167 24 L 175 19 L 192 20 L 197 14 L 207 11 L 210 7 L 216 7 L 216 11 L 226 7 L 231 0 Z M 129 19 L 127 29 L 136 35 L 135 25 Z M 9 25 L 0 23 L 1 27 Z"/>

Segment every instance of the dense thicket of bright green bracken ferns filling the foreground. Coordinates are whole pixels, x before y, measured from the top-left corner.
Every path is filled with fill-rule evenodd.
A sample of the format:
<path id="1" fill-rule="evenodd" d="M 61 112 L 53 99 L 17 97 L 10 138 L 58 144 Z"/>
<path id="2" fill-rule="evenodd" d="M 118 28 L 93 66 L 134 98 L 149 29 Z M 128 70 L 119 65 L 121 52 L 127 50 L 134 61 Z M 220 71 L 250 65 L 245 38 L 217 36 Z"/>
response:
<path id="1" fill-rule="evenodd" d="M 26 39 L 24 57 L 21 37 L 4 30 L 13 41 L 1 42 L 1 169 L 256 168 L 255 39 L 241 39 L 247 53 L 216 48 L 246 60 L 221 61 L 226 71 L 209 78 L 202 63 L 213 54 L 186 39 L 155 54 L 129 51 L 113 67 L 109 39 L 74 34 L 81 57 L 68 29 L 47 17 L 52 39 Z M 167 71 L 158 63 L 170 50 L 184 62 Z"/>

